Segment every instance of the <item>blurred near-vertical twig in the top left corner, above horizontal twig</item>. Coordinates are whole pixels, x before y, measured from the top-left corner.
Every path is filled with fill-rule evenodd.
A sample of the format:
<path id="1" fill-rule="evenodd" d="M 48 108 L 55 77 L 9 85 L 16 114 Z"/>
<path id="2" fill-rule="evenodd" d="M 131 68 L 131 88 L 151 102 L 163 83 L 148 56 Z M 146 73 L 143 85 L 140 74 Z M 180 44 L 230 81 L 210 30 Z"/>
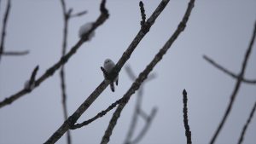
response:
<path id="1" fill-rule="evenodd" d="M 5 40 L 5 35 L 6 35 L 6 26 L 7 26 L 7 21 L 9 18 L 9 10 L 11 8 L 11 0 L 8 0 L 7 3 L 7 8 L 3 17 L 3 28 L 2 28 L 2 35 L 1 35 L 1 43 L 0 43 L 0 60 L 1 60 L 1 56 L 3 54 L 3 50 L 4 50 L 4 40 Z"/>

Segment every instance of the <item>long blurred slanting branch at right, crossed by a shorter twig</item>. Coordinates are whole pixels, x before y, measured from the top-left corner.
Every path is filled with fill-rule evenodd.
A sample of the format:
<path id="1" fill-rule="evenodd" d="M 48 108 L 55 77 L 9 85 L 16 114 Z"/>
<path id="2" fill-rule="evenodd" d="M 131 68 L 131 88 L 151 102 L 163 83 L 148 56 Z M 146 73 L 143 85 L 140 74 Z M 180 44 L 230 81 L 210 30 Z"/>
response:
<path id="1" fill-rule="evenodd" d="M 244 56 L 244 60 L 242 62 L 241 72 L 239 73 L 238 78 L 236 78 L 237 79 L 236 80 L 236 86 L 235 86 L 232 94 L 230 95 L 230 103 L 229 103 L 226 111 L 224 112 L 224 117 L 222 118 L 220 124 L 218 124 L 218 129 L 215 131 L 214 135 L 212 136 L 212 140 L 210 141 L 211 144 L 213 144 L 214 141 L 216 140 L 220 130 L 222 129 L 226 119 L 228 118 L 228 116 L 230 114 L 230 111 L 232 109 L 233 103 L 234 103 L 234 101 L 236 99 L 236 94 L 237 94 L 237 92 L 238 92 L 238 90 L 240 88 L 242 79 L 244 77 L 244 73 L 245 73 L 246 66 L 247 66 L 247 60 L 248 60 L 249 55 L 251 54 L 251 51 L 253 49 L 253 43 L 254 43 L 255 35 L 256 35 L 256 21 L 254 23 L 253 36 L 252 36 L 251 42 L 249 43 L 246 55 Z"/>

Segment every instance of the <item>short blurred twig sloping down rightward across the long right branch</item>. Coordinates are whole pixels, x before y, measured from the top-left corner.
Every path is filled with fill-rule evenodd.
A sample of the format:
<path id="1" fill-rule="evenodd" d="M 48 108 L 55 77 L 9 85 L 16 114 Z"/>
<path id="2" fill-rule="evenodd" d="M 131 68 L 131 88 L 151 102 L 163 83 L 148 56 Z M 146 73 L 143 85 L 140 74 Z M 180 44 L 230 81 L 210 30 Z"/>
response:
<path id="1" fill-rule="evenodd" d="M 230 77 L 236 78 L 236 79 L 238 78 L 238 76 L 237 76 L 235 73 L 230 72 L 229 70 L 227 70 L 226 68 L 224 68 L 224 66 L 218 65 L 218 63 L 216 63 L 214 60 L 212 60 L 211 58 L 209 58 L 207 55 L 203 55 L 203 58 L 204 58 L 205 60 L 207 60 L 209 63 L 211 63 L 212 66 L 215 66 L 215 67 L 217 67 L 220 71 L 222 71 L 222 72 L 224 72 L 224 73 L 230 75 Z M 247 84 L 256 84 L 256 79 L 250 80 L 250 79 L 242 78 L 241 81 L 244 82 L 244 83 L 247 83 Z"/>

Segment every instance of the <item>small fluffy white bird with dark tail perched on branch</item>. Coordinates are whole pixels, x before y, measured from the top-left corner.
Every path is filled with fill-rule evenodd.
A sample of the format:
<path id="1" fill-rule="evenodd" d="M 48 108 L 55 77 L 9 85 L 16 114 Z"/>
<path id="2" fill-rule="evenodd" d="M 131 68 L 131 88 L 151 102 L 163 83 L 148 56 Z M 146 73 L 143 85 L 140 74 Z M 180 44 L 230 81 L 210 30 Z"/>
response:
<path id="1" fill-rule="evenodd" d="M 115 66 L 114 62 L 110 59 L 106 59 L 104 61 L 104 70 L 107 72 L 107 73 L 110 73 L 113 69 L 113 67 Z M 103 71 L 103 70 L 102 70 Z M 104 74 L 104 78 L 106 78 L 106 74 L 103 72 Z M 117 76 L 116 78 L 114 78 L 113 82 L 110 83 L 110 89 L 114 92 L 114 83 L 116 85 L 119 84 L 119 76 Z"/>

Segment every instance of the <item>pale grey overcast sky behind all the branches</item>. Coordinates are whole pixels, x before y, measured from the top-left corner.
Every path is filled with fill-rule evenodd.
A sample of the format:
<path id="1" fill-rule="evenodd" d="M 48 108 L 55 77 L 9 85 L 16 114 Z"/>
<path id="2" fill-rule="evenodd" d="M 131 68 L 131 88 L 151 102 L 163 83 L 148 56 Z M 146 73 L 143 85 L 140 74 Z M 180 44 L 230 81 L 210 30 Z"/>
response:
<path id="1" fill-rule="evenodd" d="M 96 29 L 96 36 L 84 43 L 67 62 L 67 105 L 72 114 L 88 95 L 102 82 L 100 66 L 106 58 L 119 60 L 140 29 L 138 2 L 108 1 L 109 19 Z M 147 17 L 160 0 L 143 1 Z M 145 68 L 158 50 L 171 37 L 189 1 L 172 0 L 155 21 L 150 32 L 139 43 L 127 63 L 137 74 Z M 88 10 L 83 17 L 70 20 L 68 46 L 79 41 L 79 26 L 96 20 L 100 1 L 69 0 L 67 7 L 74 12 Z M 203 60 L 208 55 L 230 71 L 238 73 L 256 20 L 255 0 L 209 1 L 197 0 L 188 26 L 173 43 L 164 59 L 154 68 L 157 78 L 144 85 L 143 110 L 158 112 L 141 141 L 146 143 L 185 143 L 183 128 L 183 89 L 189 96 L 189 126 L 194 143 L 208 143 L 224 115 L 236 80 Z M 6 0 L 1 1 L 1 21 Z M 2 22 L 0 24 L 2 27 Z M 62 11 L 59 0 L 13 0 L 9 14 L 6 50 L 29 49 L 20 57 L 2 57 L 0 63 L 0 100 L 23 88 L 32 69 L 39 65 L 38 76 L 61 57 Z M 256 47 L 247 64 L 246 78 L 256 78 Z M 108 88 L 85 112 L 79 122 L 118 100 L 132 82 L 124 69 L 119 73 L 119 86 L 112 93 Z M 216 143 L 236 143 L 243 124 L 253 107 L 255 85 L 241 84 L 235 105 Z M 123 143 L 135 106 L 135 96 L 125 107 L 113 130 L 109 143 Z M 59 71 L 37 89 L 12 105 L 0 109 L 0 143 L 43 143 L 63 123 Z M 92 124 L 73 130 L 73 143 L 99 143 L 113 111 Z M 244 143 L 255 143 L 255 116 L 249 125 Z M 143 127 L 139 120 L 137 132 Z M 137 133 L 136 133 L 137 134 Z M 135 134 L 135 135 L 136 135 Z M 57 143 L 66 143 L 66 135 Z"/>

